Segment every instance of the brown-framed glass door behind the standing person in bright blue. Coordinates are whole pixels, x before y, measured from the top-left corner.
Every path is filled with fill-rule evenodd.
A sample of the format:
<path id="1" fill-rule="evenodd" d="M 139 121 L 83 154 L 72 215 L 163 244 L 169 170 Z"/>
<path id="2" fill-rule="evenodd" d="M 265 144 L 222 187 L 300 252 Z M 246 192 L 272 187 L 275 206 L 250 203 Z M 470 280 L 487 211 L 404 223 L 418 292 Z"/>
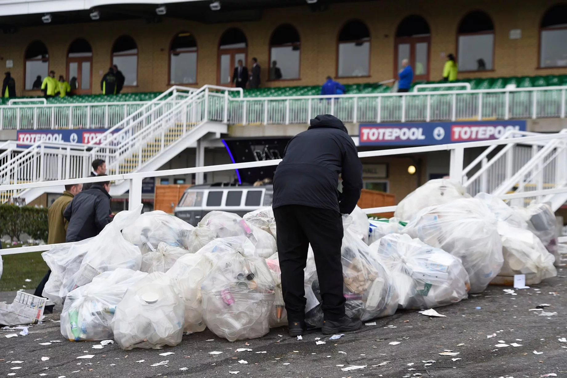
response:
<path id="1" fill-rule="evenodd" d="M 413 69 L 413 81 L 429 80 L 429 36 L 397 38 L 395 56 L 396 78 L 401 62 L 408 59 Z"/>

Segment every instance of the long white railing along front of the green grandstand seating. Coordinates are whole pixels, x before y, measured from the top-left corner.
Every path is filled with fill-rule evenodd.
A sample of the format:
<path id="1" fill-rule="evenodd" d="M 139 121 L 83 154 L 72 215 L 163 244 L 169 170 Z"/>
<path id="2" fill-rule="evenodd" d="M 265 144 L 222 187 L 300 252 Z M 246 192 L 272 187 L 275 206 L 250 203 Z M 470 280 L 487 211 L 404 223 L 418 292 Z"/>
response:
<path id="1" fill-rule="evenodd" d="M 244 125 L 305 124 L 318 114 L 332 114 L 345 123 L 564 118 L 566 90 L 567 86 L 549 86 L 327 96 L 244 98 L 241 94 L 230 97 L 227 109 L 219 111 L 226 111 L 227 123 Z M 0 129 L 111 128 L 155 114 L 151 108 L 160 107 L 176 91 L 181 99 L 195 89 L 172 87 L 151 102 L 0 106 Z"/>

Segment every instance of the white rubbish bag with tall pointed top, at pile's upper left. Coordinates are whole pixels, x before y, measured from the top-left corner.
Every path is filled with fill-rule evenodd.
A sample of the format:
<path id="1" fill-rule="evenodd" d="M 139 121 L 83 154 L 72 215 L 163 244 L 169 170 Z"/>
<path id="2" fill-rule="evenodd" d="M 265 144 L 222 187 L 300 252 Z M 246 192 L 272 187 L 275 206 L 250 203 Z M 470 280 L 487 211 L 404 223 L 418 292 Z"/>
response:
<path id="1" fill-rule="evenodd" d="M 121 230 L 132 224 L 140 215 L 142 205 L 133 211 L 121 211 L 114 220 L 84 245 L 87 253 L 84 255 L 81 267 L 63 284 L 67 292 L 81 287 L 92 281 L 99 274 L 117 268 L 140 270 L 142 253 L 137 246 L 122 237 Z M 67 292 L 63 294 L 66 295 Z"/>

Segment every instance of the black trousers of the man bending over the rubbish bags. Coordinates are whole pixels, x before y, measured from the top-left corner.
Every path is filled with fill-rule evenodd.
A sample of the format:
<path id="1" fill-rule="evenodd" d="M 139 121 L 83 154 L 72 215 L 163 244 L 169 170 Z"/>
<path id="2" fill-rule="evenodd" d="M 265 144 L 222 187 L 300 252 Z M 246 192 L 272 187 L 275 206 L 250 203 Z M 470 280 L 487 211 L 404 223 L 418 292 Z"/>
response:
<path id="1" fill-rule="evenodd" d="M 282 272 L 282 292 L 289 321 L 305 318 L 303 269 L 309 245 L 315 255 L 325 320 L 345 315 L 341 245 L 342 217 L 330 209 L 286 205 L 274 209 L 278 230 L 278 256 Z"/>

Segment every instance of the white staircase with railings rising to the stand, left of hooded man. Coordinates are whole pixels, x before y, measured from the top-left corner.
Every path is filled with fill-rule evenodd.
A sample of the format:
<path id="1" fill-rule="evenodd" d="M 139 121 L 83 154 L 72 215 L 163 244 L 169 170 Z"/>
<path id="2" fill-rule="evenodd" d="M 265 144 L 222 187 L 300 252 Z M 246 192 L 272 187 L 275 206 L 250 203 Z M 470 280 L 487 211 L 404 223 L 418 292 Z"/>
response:
<path id="1" fill-rule="evenodd" d="M 12 145 L 0 155 L 0 184 L 87 177 L 96 158 L 107 162 L 109 175 L 157 170 L 195 142 L 199 147 L 210 133 L 227 132 L 229 91 L 242 96 L 242 89 L 172 87 L 88 145 L 38 142 L 19 151 Z M 111 195 L 127 190 L 127 183 L 116 182 Z M 0 203 L 12 198 L 29 203 L 43 192 L 3 192 Z"/>

